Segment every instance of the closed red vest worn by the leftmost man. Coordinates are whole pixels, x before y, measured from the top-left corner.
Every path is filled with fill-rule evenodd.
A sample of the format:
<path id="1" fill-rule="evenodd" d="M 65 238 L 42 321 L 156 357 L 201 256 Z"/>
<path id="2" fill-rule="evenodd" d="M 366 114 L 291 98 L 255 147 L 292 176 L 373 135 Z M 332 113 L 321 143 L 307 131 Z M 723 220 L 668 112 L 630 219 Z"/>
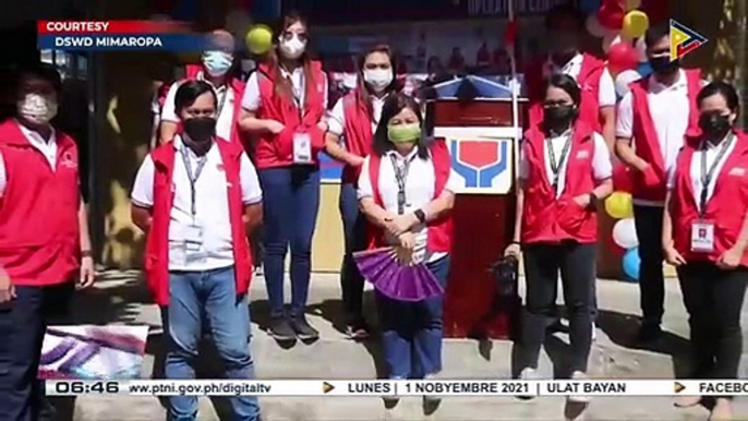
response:
<path id="1" fill-rule="evenodd" d="M 57 144 L 52 170 L 14 119 L 0 124 L 0 154 L 8 176 L 0 201 L 0 264 L 16 285 L 55 285 L 79 276 L 77 147 L 59 131 Z"/>

